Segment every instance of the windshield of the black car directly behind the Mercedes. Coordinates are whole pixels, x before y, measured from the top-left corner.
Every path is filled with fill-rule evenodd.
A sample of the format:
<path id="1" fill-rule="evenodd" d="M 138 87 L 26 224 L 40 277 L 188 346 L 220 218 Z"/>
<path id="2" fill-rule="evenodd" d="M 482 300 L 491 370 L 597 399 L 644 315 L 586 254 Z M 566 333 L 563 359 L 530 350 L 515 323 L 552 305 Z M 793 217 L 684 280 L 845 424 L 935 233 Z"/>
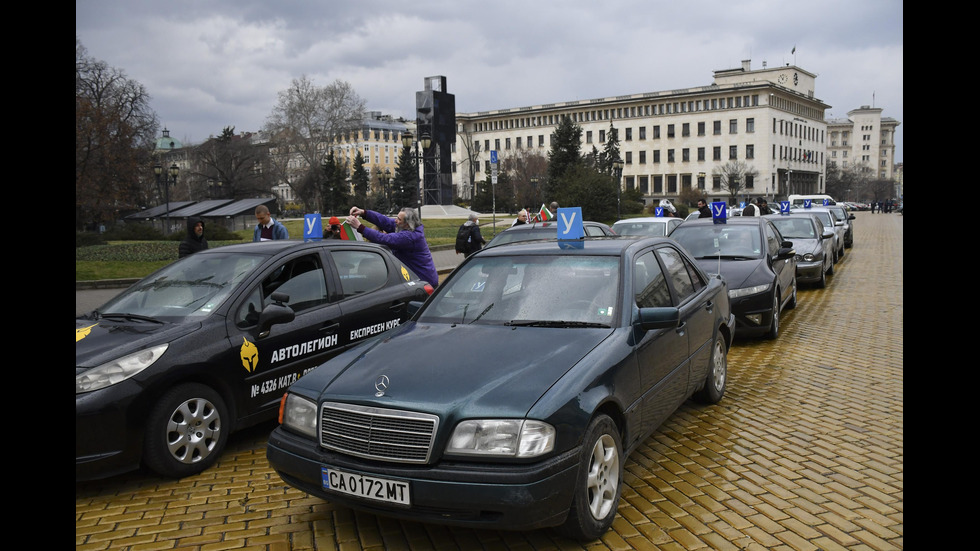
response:
<path id="1" fill-rule="evenodd" d="M 757 226 L 681 224 L 670 237 L 683 245 L 695 258 L 762 258 L 762 238 Z"/>

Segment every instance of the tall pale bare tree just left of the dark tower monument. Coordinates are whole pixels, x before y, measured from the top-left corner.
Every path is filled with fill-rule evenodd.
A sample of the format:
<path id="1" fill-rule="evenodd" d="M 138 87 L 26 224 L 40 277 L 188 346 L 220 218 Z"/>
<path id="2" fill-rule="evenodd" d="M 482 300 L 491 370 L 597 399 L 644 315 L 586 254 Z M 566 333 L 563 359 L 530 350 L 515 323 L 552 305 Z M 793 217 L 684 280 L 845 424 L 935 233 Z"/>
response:
<path id="1" fill-rule="evenodd" d="M 272 166 L 306 208 L 321 204 L 318 195 L 327 150 L 361 125 L 364 106 L 350 83 L 341 80 L 319 87 L 303 75 L 279 92 L 265 126 L 277 157 Z"/>

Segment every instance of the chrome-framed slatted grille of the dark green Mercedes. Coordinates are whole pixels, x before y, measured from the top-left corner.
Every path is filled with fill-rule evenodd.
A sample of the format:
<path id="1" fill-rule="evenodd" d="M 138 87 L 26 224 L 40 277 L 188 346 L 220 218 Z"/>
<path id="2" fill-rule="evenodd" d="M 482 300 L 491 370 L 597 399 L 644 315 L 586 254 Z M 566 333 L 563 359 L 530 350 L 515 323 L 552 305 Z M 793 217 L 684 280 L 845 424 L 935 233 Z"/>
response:
<path id="1" fill-rule="evenodd" d="M 340 453 L 398 463 L 426 463 L 439 418 L 427 413 L 324 402 L 320 445 Z"/>

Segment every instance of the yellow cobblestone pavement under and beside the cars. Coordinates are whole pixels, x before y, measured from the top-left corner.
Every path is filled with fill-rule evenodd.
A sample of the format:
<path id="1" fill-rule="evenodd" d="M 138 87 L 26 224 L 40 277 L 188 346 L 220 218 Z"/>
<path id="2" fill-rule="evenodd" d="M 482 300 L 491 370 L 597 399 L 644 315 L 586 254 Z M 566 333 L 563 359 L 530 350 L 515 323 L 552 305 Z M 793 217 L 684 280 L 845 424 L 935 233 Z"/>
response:
<path id="1" fill-rule="evenodd" d="M 197 476 L 76 483 L 75 548 L 902 549 L 904 217 L 855 214 L 827 288 L 801 287 L 776 341 L 736 341 L 722 401 L 686 403 L 630 456 L 601 540 L 397 521 L 310 497 L 269 467 L 269 423 L 233 435 Z"/>

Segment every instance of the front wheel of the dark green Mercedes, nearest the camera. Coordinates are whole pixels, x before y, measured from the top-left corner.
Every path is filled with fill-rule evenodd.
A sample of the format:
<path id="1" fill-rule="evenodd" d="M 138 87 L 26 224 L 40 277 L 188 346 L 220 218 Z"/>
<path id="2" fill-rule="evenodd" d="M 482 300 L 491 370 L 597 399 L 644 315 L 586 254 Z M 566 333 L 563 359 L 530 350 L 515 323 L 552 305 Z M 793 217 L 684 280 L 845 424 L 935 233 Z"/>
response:
<path id="1" fill-rule="evenodd" d="M 572 505 L 558 531 L 579 541 L 593 541 L 612 526 L 623 491 L 623 442 L 608 415 L 599 414 L 582 439 Z"/>

